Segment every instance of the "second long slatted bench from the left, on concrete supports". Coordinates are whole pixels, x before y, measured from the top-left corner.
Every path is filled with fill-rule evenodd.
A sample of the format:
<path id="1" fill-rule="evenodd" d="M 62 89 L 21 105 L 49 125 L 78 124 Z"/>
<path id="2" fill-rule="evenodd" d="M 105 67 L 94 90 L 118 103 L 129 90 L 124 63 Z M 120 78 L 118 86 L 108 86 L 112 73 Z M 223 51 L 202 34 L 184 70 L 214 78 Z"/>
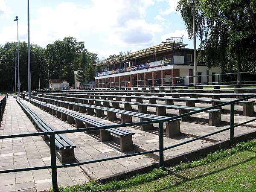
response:
<path id="1" fill-rule="evenodd" d="M 57 118 L 61 118 L 62 120 L 67 120 L 67 122 L 70 124 L 75 123 L 76 128 L 100 127 L 100 126 L 107 125 L 107 124 L 95 121 L 93 119 L 89 119 L 84 116 L 77 115 L 75 113 L 71 113 L 59 108 L 55 108 L 51 105 L 47 105 L 46 103 L 38 102 L 35 99 L 31 99 L 30 101 L 33 105 L 40 107 L 44 111 L 47 111 L 52 115 L 56 115 Z M 90 134 L 90 133 L 96 133 L 96 131 L 87 131 L 87 134 Z M 116 140 L 116 137 L 112 137 L 111 134 L 116 135 L 119 138 L 119 140 Z M 134 134 L 135 133 L 126 131 L 122 128 L 102 129 L 99 131 L 101 141 L 113 140 L 114 142 L 120 145 L 121 152 L 133 150 L 132 135 Z"/>

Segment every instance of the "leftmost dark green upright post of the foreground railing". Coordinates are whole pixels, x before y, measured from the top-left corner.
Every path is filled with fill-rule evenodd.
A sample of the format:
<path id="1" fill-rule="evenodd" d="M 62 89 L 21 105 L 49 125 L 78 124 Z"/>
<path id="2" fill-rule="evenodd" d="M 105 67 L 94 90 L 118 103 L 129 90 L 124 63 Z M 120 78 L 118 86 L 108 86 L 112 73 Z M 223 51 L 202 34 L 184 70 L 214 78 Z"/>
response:
<path id="1" fill-rule="evenodd" d="M 50 150 L 51 150 L 51 167 L 52 167 L 52 189 L 54 192 L 58 192 L 55 134 L 50 135 Z"/>

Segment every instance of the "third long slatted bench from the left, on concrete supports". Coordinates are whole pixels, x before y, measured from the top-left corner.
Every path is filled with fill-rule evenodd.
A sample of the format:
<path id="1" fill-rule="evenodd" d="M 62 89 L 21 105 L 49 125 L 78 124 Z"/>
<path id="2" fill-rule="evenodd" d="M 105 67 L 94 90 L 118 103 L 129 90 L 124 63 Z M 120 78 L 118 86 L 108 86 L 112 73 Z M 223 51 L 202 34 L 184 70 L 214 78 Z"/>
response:
<path id="1" fill-rule="evenodd" d="M 132 111 L 125 111 L 125 110 L 119 110 L 115 108 L 107 108 L 102 106 L 95 106 L 95 105 L 86 105 L 81 103 L 75 103 L 75 102 L 67 102 L 67 101 L 61 101 L 57 99 L 47 99 L 47 98 L 39 98 L 38 96 L 33 96 L 35 99 L 44 100 L 45 102 L 52 103 L 53 105 L 58 105 L 61 107 L 69 108 L 74 111 L 79 111 L 80 113 L 86 112 L 88 115 L 91 115 L 96 113 L 96 116 L 101 117 L 104 116 L 104 111 L 107 111 L 107 116 L 109 121 L 116 120 L 116 113 L 121 114 L 121 121 L 122 123 L 129 123 L 132 122 L 132 117 L 138 117 L 140 118 L 140 121 L 148 121 L 148 120 L 159 120 L 159 119 L 166 119 L 164 116 L 155 116 L 155 115 L 149 115 L 144 113 L 137 113 Z M 33 100 L 34 101 L 34 100 Z M 180 136 L 180 119 L 175 119 L 172 121 L 166 122 L 166 135 L 167 137 L 177 137 Z M 141 125 L 142 131 L 148 131 L 153 129 L 152 124 L 144 124 Z"/>

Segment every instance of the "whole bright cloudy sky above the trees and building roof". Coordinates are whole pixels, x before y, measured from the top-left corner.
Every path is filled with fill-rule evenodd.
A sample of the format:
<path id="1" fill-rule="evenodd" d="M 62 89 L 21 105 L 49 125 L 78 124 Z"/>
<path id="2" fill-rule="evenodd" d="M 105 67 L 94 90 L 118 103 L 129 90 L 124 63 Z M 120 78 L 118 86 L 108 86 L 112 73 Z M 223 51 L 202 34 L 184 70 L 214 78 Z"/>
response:
<path id="1" fill-rule="evenodd" d="M 181 37 L 192 48 L 179 0 L 31 0 L 30 43 L 46 47 L 72 36 L 99 59 Z M 0 44 L 27 42 L 27 0 L 0 0 Z M 198 42 L 199 40 L 197 40 Z M 198 43 L 197 43 L 198 45 Z M 198 47 L 198 46 L 197 46 Z"/>

